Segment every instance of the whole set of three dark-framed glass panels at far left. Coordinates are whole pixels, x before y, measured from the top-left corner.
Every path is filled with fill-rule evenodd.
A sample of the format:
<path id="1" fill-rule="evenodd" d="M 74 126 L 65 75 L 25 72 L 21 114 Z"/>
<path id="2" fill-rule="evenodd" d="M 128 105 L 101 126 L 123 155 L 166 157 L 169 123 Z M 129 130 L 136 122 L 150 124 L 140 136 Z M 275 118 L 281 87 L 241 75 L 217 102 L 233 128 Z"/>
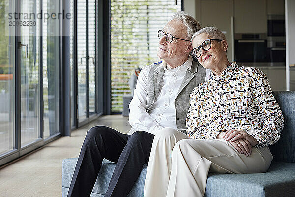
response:
<path id="1" fill-rule="evenodd" d="M 0 165 L 60 133 L 60 4 L 0 0 Z"/>

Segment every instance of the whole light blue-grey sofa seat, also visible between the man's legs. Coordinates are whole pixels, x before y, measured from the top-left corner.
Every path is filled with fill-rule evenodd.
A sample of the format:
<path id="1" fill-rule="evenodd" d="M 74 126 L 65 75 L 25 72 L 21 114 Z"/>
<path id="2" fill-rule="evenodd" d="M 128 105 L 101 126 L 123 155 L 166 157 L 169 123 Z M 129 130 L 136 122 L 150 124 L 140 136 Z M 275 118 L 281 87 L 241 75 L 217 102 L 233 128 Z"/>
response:
<path id="1" fill-rule="evenodd" d="M 77 158 L 62 162 L 62 196 L 66 197 Z M 104 160 L 91 197 L 107 191 L 116 163 Z M 147 172 L 144 165 L 128 197 L 142 197 Z M 291 197 L 295 196 L 295 163 L 272 163 L 266 173 L 209 174 L 205 197 Z"/>

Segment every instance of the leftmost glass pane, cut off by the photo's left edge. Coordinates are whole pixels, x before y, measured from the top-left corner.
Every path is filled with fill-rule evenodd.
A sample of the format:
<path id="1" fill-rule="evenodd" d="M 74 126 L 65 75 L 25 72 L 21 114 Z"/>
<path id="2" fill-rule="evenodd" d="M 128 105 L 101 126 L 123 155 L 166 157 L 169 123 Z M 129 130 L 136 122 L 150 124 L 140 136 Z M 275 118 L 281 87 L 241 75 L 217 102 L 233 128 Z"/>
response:
<path id="1" fill-rule="evenodd" d="M 0 1 L 0 158 L 16 149 L 15 114 L 15 27 L 6 17 L 15 12 L 14 0 Z"/>

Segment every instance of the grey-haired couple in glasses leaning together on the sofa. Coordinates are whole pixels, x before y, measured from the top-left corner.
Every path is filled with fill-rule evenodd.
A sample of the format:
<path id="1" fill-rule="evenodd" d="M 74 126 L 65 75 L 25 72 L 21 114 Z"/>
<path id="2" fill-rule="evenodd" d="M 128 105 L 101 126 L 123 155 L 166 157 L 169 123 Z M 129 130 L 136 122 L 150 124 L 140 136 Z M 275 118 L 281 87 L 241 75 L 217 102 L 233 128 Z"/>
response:
<path id="1" fill-rule="evenodd" d="M 68 197 L 90 196 L 103 158 L 117 163 L 105 197 L 126 197 L 144 164 L 144 197 L 202 197 L 209 172 L 268 169 L 284 118 L 266 75 L 229 63 L 225 35 L 184 12 L 158 37 L 163 61 L 139 74 L 131 130 L 87 132 Z"/>

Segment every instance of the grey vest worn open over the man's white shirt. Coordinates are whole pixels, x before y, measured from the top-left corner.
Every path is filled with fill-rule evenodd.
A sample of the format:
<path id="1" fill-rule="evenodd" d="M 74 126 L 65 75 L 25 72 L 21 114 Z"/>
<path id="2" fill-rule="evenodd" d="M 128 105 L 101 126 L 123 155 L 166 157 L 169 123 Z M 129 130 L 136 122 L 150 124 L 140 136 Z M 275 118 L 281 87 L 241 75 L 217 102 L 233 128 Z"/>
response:
<path id="1" fill-rule="evenodd" d="M 149 110 L 152 108 L 156 98 L 158 98 L 161 92 L 161 82 L 165 70 L 163 67 L 158 69 L 160 63 L 153 64 L 148 74 L 147 112 L 149 112 Z M 178 130 L 182 131 L 183 133 L 186 133 L 185 119 L 189 108 L 190 94 L 197 85 L 205 81 L 205 76 L 206 69 L 198 62 L 193 61 L 191 70 L 189 71 L 187 68 L 183 81 L 178 90 L 177 97 L 174 102 L 176 111 L 176 125 Z"/>

